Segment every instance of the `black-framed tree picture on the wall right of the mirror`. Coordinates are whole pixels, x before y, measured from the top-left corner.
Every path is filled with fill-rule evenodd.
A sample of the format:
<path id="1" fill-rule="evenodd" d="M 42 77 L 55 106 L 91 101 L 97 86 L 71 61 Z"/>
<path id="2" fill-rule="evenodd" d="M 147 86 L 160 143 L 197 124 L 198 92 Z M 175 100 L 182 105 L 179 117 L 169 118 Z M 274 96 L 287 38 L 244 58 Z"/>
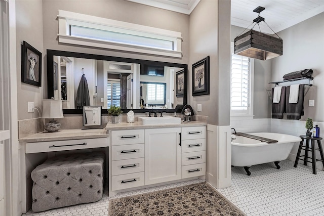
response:
<path id="1" fill-rule="evenodd" d="M 209 95 L 209 56 L 192 65 L 192 96 Z"/>

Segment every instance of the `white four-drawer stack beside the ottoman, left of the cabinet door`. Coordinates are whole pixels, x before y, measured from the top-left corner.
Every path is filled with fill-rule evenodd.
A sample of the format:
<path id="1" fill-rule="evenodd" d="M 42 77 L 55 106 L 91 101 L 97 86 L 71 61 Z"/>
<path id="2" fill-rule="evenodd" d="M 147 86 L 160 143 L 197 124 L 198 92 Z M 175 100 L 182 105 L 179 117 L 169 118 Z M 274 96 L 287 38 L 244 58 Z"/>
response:
<path id="1" fill-rule="evenodd" d="M 144 185 L 144 129 L 111 132 L 111 190 Z"/>

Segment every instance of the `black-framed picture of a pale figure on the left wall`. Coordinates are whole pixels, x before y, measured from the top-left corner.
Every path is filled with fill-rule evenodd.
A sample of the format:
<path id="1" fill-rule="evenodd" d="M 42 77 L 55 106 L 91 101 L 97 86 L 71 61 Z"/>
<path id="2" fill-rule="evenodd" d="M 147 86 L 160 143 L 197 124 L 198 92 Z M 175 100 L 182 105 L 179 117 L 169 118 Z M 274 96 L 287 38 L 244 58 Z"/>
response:
<path id="1" fill-rule="evenodd" d="M 31 61 L 35 64 L 32 66 Z M 21 46 L 21 81 L 42 86 L 42 53 L 22 41 Z"/>

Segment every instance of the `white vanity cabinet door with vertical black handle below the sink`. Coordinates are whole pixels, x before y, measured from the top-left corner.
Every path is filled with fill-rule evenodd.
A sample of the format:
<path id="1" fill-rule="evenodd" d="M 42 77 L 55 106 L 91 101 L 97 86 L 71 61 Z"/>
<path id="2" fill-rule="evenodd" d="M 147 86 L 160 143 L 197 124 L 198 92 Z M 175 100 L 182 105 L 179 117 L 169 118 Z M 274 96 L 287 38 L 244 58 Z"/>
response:
<path id="1" fill-rule="evenodd" d="M 145 185 L 181 179 L 181 127 L 145 129 Z"/>

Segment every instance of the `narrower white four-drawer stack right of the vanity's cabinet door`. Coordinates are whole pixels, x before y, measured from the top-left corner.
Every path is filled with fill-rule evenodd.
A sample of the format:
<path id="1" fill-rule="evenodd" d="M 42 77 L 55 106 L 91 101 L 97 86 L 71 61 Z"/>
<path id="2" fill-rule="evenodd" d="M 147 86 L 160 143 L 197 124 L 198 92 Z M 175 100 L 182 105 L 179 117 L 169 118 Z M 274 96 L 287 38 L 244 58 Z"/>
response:
<path id="1" fill-rule="evenodd" d="M 182 127 L 182 179 L 206 175 L 206 126 Z"/>

